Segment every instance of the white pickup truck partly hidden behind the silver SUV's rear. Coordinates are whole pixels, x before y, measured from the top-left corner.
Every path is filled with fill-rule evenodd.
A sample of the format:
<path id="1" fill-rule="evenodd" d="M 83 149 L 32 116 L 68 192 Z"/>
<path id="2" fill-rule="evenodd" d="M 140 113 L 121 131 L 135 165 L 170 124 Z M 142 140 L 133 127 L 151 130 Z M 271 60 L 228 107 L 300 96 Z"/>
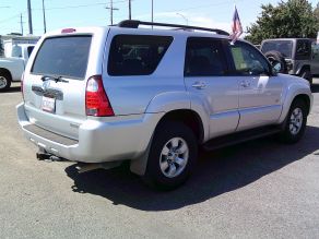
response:
<path id="1" fill-rule="evenodd" d="M 35 45 L 16 44 L 10 56 L 0 58 L 0 92 L 7 91 L 11 82 L 21 81 L 25 64 Z"/>

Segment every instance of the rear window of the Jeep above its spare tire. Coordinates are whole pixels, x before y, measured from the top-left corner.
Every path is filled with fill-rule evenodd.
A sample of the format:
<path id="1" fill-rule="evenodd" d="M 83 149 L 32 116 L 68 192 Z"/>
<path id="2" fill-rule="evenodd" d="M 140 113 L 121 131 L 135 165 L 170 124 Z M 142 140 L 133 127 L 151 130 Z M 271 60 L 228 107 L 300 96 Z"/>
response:
<path id="1" fill-rule="evenodd" d="M 285 58 L 292 58 L 293 41 L 292 40 L 270 40 L 262 44 L 261 51 L 263 53 L 276 50 Z"/>

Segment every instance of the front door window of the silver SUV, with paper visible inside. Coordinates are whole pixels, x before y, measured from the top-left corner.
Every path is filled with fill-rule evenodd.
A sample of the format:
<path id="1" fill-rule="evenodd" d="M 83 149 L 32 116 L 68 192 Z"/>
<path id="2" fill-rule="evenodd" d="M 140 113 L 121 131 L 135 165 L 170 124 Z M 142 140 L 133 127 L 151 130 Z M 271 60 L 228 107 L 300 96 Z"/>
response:
<path id="1" fill-rule="evenodd" d="M 229 47 L 237 74 L 260 75 L 270 72 L 268 61 L 252 46 L 236 41 L 235 45 L 229 45 Z"/>

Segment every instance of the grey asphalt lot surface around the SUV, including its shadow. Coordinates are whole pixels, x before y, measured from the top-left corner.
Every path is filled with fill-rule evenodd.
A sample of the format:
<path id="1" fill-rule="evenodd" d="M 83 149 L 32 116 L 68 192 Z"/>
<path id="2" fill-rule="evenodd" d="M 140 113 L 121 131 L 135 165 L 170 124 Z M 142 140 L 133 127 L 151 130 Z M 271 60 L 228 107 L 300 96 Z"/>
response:
<path id="1" fill-rule="evenodd" d="M 201 153 L 156 192 L 125 167 L 79 175 L 38 162 L 17 127 L 19 83 L 0 94 L 0 238 L 319 238 L 319 80 L 304 139 Z"/>

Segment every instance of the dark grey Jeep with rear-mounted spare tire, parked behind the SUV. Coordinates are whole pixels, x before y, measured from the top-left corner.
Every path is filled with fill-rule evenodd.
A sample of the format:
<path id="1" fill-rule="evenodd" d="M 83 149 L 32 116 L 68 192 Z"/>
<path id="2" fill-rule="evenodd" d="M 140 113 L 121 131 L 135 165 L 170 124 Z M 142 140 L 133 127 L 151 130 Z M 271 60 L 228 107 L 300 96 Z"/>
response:
<path id="1" fill-rule="evenodd" d="M 261 51 L 281 73 L 298 75 L 312 84 L 319 74 L 319 46 L 309 38 L 276 38 L 261 43 Z"/>

